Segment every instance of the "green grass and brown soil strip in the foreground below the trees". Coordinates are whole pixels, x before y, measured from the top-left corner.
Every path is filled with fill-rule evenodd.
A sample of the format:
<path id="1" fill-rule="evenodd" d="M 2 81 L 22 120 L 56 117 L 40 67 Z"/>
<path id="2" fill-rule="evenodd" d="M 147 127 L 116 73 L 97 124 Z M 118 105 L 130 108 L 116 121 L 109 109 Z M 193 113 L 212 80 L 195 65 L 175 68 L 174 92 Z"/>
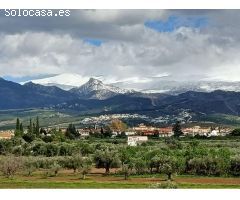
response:
<path id="1" fill-rule="evenodd" d="M 57 176 L 46 177 L 43 172 L 35 172 L 32 176 L 16 175 L 12 179 L 0 177 L 0 188 L 62 188 L 62 189 L 149 189 L 154 183 L 165 181 L 162 175 L 131 176 L 124 180 L 123 176 L 102 173 L 91 173 L 85 180 L 72 171 L 61 171 Z M 240 178 L 175 176 L 178 188 L 204 189 L 240 189 Z"/>

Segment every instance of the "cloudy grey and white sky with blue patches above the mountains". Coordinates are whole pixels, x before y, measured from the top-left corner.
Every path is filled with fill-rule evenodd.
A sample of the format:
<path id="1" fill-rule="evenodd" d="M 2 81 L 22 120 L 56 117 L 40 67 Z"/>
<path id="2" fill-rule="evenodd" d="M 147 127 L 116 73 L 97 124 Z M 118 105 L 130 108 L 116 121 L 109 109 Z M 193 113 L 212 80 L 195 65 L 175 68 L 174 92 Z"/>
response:
<path id="1" fill-rule="evenodd" d="M 132 87 L 161 80 L 239 81 L 239 19 L 239 10 L 0 14 L 0 76 L 21 82 L 77 73 Z"/>

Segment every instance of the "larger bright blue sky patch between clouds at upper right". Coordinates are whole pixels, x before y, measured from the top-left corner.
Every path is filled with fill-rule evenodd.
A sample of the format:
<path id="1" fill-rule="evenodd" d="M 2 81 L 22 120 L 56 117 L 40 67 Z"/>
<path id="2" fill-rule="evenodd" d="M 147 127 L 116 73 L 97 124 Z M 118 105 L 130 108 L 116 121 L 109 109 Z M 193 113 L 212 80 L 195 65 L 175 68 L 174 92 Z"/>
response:
<path id="1" fill-rule="evenodd" d="M 158 32 L 172 32 L 180 27 L 203 28 L 207 26 L 206 17 L 169 16 L 166 21 L 146 21 L 145 26 Z"/>

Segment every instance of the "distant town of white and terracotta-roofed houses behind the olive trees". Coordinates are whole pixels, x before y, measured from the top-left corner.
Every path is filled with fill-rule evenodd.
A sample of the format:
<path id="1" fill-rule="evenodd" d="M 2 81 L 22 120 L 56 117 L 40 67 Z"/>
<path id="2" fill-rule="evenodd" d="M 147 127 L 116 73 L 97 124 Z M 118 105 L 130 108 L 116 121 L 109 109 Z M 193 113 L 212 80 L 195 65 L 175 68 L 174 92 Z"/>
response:
<path id="1" fill-rule="evenodd" d="M 149 137 L 171 137 L 174 135 L 172 126 L 165 127 L 157 127 L 157 126 L 148 126 L 144 123 L 140 123 L 137 126 L 127 127 L 121 119 L 125 117 L 139 118 L 139 115 L 128 115 L 128 114 L 116 114 L 111 117 L 108 115 L 101 115 L 99 117 L 90 117 L 85 118 L 82 122 L 86 125 L 85 128 L 76 128 L 76 131 L 79 134 L 79 137 L 89 137 L 90 135 L 99 135 L 103 132 L 109 131 L 110 137 L 115 138 L 118 136 L 149 136 Z M 142 116 L 144 117 L 144 116 Z M 101 122 L 103 126 L 97 125 Z M 95 124 L 94 126 L 90 126 L 89 124 Z M 88 126 L 89 125 L 89 126 Z M 40 128 L 39 128 L 40 129 Z M 62 134 L 67 132 L 66 127 L 45 127 L 41 128 L 39 131 L 42 134 L 46 134 L 51 136 L 51 131 L 58 129 Z M 205 136 L 205 137 L 214 137 L 214 136 L 226 136 L 230 134 L 233 129 L 229 127 L 223 126 L 204 126 L 201 127 L 199 125 L 191 126 L 191 127 L 183 127 L 181 128 L 182 135 L 185 136 Z M 1 130 L 0 131 L 0 139 L 11 139 L 14 137 L 16 133 L 15 129 L 10 130 Z M 23 130 L 23 134 L 27 134 L 28 129 Z M 145 139 L 144 139 L 145 140 Z"/>

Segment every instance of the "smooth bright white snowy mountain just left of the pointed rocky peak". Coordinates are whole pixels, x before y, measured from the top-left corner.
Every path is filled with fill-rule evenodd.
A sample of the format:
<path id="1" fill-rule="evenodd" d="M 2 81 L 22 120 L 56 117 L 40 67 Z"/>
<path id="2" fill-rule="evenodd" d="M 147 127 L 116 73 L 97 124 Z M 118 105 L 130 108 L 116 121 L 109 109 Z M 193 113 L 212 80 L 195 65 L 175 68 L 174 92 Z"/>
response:
<path id="1" fill-rule="evenodd" d="M 32 82 L 44 86 L 57 86 L 63 90 L 70 90 L 74 87 L 80 87 L 81 85 L 86 83 L 88 79 L 89 79 L 88 77 L 83 77 L 79 74 L 65 73 L 52 76 L 49 78 L 29 80 L 27 82 Z M 21 84 L 25 83 L 26 82 L 22 82 Z"/>

